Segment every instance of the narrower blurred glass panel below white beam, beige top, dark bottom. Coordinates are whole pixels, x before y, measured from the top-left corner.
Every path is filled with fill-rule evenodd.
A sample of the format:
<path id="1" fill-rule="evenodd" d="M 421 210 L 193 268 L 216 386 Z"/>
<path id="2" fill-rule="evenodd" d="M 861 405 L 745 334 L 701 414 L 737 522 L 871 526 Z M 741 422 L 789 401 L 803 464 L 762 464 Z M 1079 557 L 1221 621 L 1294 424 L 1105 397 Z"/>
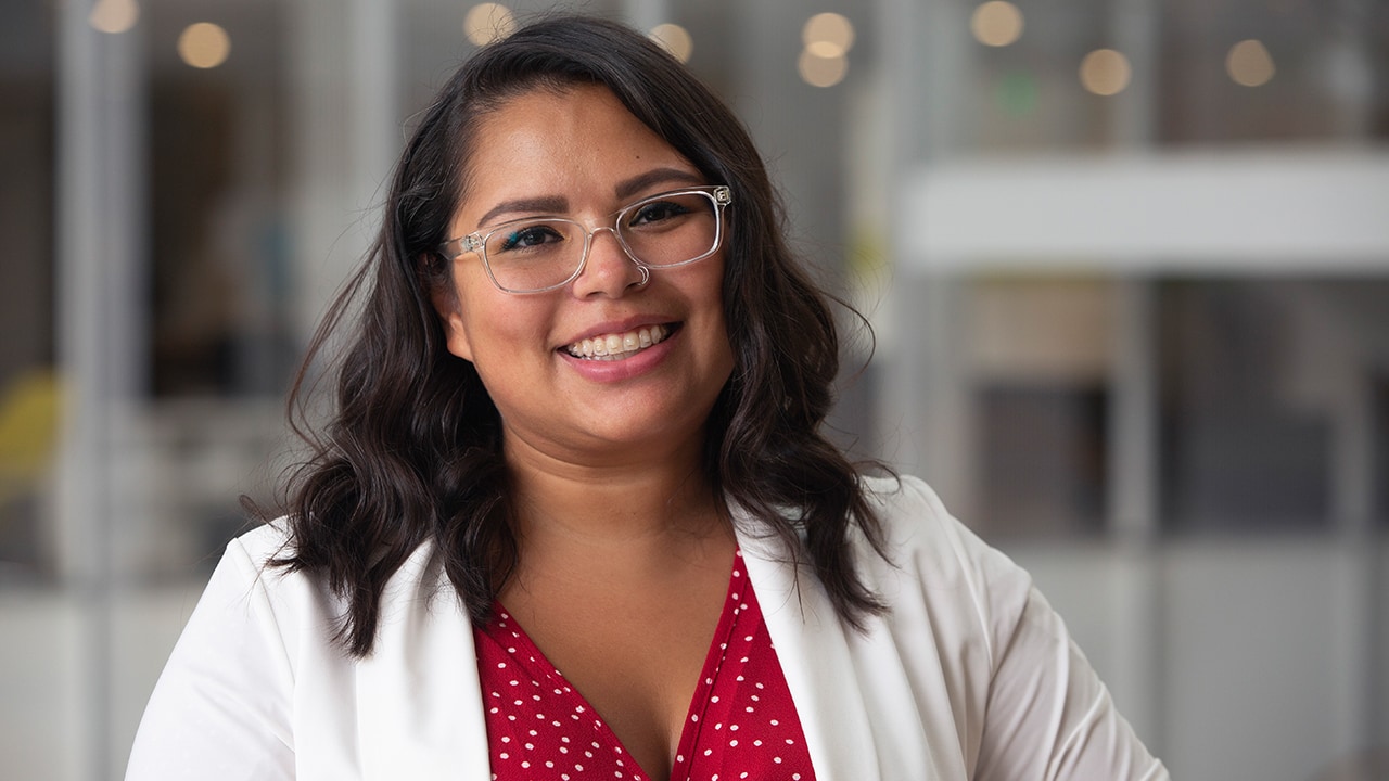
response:
<path id="1" fill-rule="evenodd" d="M 968 314 L 978 517 L 990 538 L 1104 527 L 1114 286 L 1095 278 L 976 281 Z"/>

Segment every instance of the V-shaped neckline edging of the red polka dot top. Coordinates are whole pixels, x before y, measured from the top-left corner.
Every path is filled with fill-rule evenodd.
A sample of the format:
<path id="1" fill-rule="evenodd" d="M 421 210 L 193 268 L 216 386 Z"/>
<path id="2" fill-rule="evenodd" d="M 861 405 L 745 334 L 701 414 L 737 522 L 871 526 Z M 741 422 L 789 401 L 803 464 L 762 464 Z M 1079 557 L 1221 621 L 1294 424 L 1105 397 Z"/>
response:
<path id="1" fill-rule="evenodd" d="M 700 724 L 704 716 L 704 710 L 708 706 L 708 693 L 713 689 L 715 681 L 718 680 L 720 668 L 724 663 L 724 652 L 728 648 L 728 641 L 733 636 L 733 631 L 738 628 L 738 621 L 743 610 L 739 610 L 739 603 L 746 602 L 740 599 L 743 591 L 751 591 L 743 567 L 743 553 L 740 549 L 735 549 L 733 561 L 729 567 L 728 588 L 724 591 L 724 606 L 720 610 L 718 625 L 714 630 L 714 636 L 710 639 L 708 649 L 704 652 L 704 664 L 700 667 L 699 680 L 694 684 L 694 691 L 690 695 L 690 702 L 685 709 L 685 718 L 681 725 L 681 737 L 675 745 L 675 756 L 668 757 L 671 766 L 668 768 L 668 778 L 672 781 L 678 777 L 678 773 L 685 766 L 690 763 L 694 745 L 699 741 Z M 511 632 L 511 648 L 507 648 L 513 659 L 526 667 L 526 674 L 536 681 L 543 681 L 546 677 L 556 677 L 564 681 L 564 695 L 576 700 L 578 712 L 592 713 L 594 717 L 594 728 L 606 739 L 611 741 L 611 745 L 622 756 L 631 759 L 632 764 L 638 767 L 642 774 L 640 778 L 653 780 L 657 778 L 651 775 L 636 757 L 626 749 L 622 739 L 613 731 L 608 725 L 607 718 L 593 707 L 586 696 L 568 678 L 564 673 L 556 667 L 543 650 L 531 639 L 531 635 L 525 631 L 521 623 L 511 616 L 511 613 L 501 605 L 500 600 L 493 603 L 494 617 L 493 623 L 500 630 L 507 630 Z M 489 628 L 492 628 L 489 625 Z M 622 764 L 619 762 L 619 764 Z"/>

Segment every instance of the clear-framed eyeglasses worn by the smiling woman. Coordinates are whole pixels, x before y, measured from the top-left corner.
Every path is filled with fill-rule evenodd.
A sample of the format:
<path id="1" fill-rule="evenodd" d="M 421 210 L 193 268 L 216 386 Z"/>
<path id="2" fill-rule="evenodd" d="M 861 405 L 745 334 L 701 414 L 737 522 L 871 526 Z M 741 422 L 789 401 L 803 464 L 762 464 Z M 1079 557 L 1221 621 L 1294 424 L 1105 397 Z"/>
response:
<path id="1" fill-rule="evenodd" d="M 444 242 L 454 260 L 465 252 L 482 256 L 492 283 L 507 293 L 543 293 L 572 282 L 589 257 L 599 231 L 611 231 L 643 281 L 650 268 L 686 265 L 714 254 L 724 238 L 724 207 L 732 190 L 710 185 L 671 190 L 624 206 L 613 225 L 592 231 L 564 217 L 526 217 Z"/>

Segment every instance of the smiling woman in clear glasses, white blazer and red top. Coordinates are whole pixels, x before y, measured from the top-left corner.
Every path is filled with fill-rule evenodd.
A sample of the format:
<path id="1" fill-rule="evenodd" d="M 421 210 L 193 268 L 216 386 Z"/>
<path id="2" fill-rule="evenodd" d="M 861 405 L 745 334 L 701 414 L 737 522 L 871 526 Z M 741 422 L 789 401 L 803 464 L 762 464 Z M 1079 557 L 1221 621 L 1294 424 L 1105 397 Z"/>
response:
<path id="1" fill-rule="evenodd" d="M 286 520 L 229 545 L 128 778 L 1165 777 L 1025 573 L 820 435 L 824 297 L 640 35 L 468 61 L 339 331 Z"/>

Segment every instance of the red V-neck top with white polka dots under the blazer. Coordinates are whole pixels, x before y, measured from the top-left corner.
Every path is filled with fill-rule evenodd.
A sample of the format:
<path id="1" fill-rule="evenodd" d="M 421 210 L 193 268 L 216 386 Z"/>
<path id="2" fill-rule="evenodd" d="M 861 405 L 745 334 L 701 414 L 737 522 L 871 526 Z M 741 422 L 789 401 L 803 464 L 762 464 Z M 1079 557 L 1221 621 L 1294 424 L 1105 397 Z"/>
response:
<path id="1" fill-rule="evenodd" d="M 474 631 L 494 781 L 649 781 L 601 714 L 497 605 Z M 739 552 L 672 781 L 811 781 L 806 738 Z"/>

